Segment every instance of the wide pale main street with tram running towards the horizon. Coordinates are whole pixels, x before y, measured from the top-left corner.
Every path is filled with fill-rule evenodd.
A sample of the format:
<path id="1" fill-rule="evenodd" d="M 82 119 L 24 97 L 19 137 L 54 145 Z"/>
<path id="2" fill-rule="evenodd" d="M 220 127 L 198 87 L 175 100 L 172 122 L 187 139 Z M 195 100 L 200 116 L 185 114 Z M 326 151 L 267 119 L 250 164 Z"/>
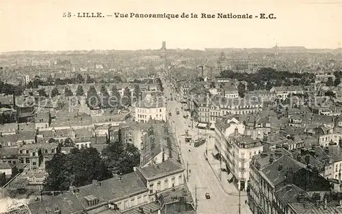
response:
<path id="1" fill-rule="evenodd" d="M 163 85 L 165 85 L 164 92 L 167 96 L 170 96 L 170 93 L 174 95 L 167 84 L 164 83 Z M 180 110 L 179 115 L 177 115 L 176 107 L 181 109 L 179 98 L 177 98 L 177 101 L 168 101 L 168 112 L 172 113 L 169 121 L 172 123 L 172 129 L 176 132 L 185 168 L 188 163 L 188 169 L 191 170 L 187 184 L 194 199 L 196 198 L 195 195 L 197 195 L 197 203 L 195 203 L 197 204 L 197 213 L 239 213 L 239 196 L 237 194 L 231 195 L 224 191 L 220 180 L 215 176 L 211 165 L 205 159 L 206 147 L 208 147 L 208 155 L 211 155 L 209 149 L 213 148 L 213 140 L 208 140 L 209 137 L 207 137 L 209 142 L 195 148 L 194 144 L 189 146 L 188 143 L 185 143 L 184 138 L 181 136 L 184 136 L 185 131 L 189 130 L 189 135 L 192 135 L 193 139 L 197 139 L 203 136 L 204 133 L 210 133 L 210 131 L 201 130 L 199 133 L 196 128 L 196 122 L 194 122 L 194 129 L 192 129 L 190 120 L 183 118 L 183 113 L 186 115 L 187 112 Z M 185 176 L 186 174 L 185 172 Z M 236 191 L 236 189 L 232 189 L 232 191 Z M 205 193 L 210 193 L 211 198 L 206 199 Z M 249 214 L 251 211 L 248 205 L 245 204 L 245 200 L 246 193 L 244 197 L 241 196 L 241 213 Z"/>

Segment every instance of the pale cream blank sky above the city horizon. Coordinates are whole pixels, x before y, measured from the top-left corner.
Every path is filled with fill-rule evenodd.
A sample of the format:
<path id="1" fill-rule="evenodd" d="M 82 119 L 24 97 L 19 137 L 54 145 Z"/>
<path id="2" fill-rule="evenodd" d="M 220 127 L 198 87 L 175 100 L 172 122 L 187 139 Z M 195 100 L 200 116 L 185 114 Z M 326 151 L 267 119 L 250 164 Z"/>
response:
<path id="1" fill-rule="evenodd" d="M 76 16 L 63 17 L 64 12 Z M 104 18 L 77 18 L 102 12 Z M 114 12 L 199 18 L 114 18 Z M 201 13 L 274 14 L 276 19 L 200 18 Z M 342 0 L 16 1 L 0 0 L 0 51 L 342 46 Z"/>

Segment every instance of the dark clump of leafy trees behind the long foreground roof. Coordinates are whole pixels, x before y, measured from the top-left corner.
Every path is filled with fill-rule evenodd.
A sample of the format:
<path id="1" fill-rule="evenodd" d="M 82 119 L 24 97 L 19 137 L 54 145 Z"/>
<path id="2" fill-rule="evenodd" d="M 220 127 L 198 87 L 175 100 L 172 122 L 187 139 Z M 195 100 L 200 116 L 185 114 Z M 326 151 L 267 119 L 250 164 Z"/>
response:
<path id="1" fill-rule="evenodd" d="M 89 185 L 115 174 L 133 172 L 140 165 L 140 151 L 133 144 L 111 142 L 101 154 L 95 148 L 74 148 L 70 154 L 56 154 L 47 162 L 45 191 L 65 191 L 70 186 Z"/>

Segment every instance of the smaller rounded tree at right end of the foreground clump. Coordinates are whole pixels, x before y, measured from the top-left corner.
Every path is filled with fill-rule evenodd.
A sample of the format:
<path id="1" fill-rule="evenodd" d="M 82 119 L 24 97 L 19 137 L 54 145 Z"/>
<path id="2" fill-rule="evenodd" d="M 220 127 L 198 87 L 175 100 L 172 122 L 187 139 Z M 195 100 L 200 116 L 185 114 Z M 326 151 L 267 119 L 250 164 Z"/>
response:
<path id="1" fill-rule="evenodd" d="M 133 167 L 140 165 L 140 152 L 131 143 L 111 142 L 101 153 L 109 170 L 116 174 L 133 172 Z"/>

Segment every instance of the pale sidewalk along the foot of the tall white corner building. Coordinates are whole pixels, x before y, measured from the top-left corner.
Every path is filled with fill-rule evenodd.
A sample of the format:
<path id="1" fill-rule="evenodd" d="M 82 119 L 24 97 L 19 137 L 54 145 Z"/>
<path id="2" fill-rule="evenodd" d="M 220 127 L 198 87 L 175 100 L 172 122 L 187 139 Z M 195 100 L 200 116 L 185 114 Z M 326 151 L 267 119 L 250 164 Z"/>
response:
<path id="1" fill-rule="evenodd" d="M 220 185 L 222 186 L 222 189 L 228 194 L 233 196 L 238 196 L 239 191 L 237 190 L 237 187 L 233 183 L 228 182 L 228 174 L 227 172 L 221 171 L 220 168 L 220 161 L 215 159 L 213 155 L 211 154 L 211 149 L 208 149 L 208 163 L 211 167 L 211 170 L 213 170 L 213 173 L 215 174 L 215 177 L 220 181 Z M 222 168 L 225 168 L 224 163 L 221 164 Z M 220 178 L 220 171 L 221 171 L 221 178 Z M 247 199 L 247 193 L 246 191 L 241 191 L 241 201 Z"/>

